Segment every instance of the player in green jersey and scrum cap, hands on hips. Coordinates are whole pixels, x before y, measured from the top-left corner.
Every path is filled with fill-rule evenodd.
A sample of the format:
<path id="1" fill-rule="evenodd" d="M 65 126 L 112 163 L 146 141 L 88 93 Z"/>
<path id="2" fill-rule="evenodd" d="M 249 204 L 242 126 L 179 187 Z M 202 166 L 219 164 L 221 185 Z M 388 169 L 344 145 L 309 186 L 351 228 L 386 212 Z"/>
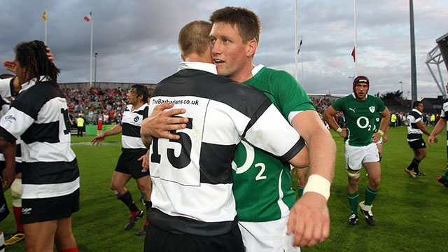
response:
<path id="1" fill-rule="evenodd" d="M 381 165 L 377 142 L 384 136 L 390 120 L 390 113 L 378 97 L 367 94 L 369 79 L 358 76 L 353 81 L 353 93 L 338 99 L 323 113 L 323 118 L 345 141 L 345 167 L 349 176 L 347 197 L 349 197 L 351 216 L 349 223 L 358 224 L 358 183 L 360 169 L 364 166 L 369 174 L 369 184 L 365 188 L 365 201 L 360 202 L 361 213 L 369 225 L 375 225 L 372 203 L 379 190 Z M 345 116 L 346 129 L 337 125 L 335 116 L 342 111 Z M 379 130 L 375 132 L 377 113 L 382 117 Z"/>

